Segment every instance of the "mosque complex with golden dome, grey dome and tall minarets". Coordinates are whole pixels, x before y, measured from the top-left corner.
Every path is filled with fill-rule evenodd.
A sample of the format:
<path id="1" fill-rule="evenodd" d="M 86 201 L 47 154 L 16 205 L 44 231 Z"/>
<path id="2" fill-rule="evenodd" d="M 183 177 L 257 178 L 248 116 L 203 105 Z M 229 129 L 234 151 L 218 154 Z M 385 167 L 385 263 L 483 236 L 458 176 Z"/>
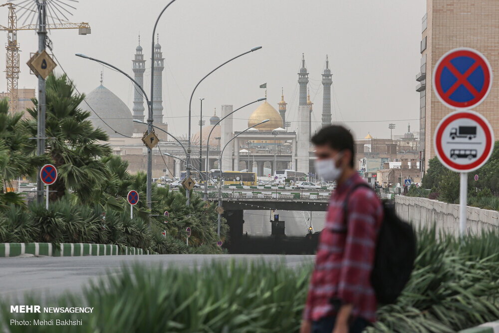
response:
<path id="1" fill-rule="evenodd" d="M 135 56 L 132 59 L 132 70 L 134 79 L 140 85 L 144 84 L 146 68 L 146 60 L 144 60 L 142 51 L 139 37 L 139 45 L 136 47 Z M 168 131 L 168 124 L 164 121 L 163 114 L 162 75 L 164 58 L 159 38 L 154 47 L 154 56 L 154 99 L 152 101 L 154 125 Z M 193 143 L 192 165 L 195 168 L 204 169 L 206 144 L 208 143 L 210 151 L 209 169 L 218 168 L 221 149 L 230 142 L 222 156 L 222 168 L 224 170 L 252 171 L 256 172 L 258 176 L 273 175 L 274 170 L 281 169 L 292 169 L 305 174 L 312 172 L 313 152 L 309 142 L 312 132 L 311 113 L 313 103 L 310 100 L 310 93 L 307 91 L 308 74 L 305 57 L 302 55 L 298 72 L 299 100 L 296 131 L 289 131 L 290 122 L 286 121 L 288 110 L 283 92 L 281 93 L 281 100 L 276 103 L 277 109 L 266 100 L 256 107 L 248 119 L 248 127 L 256 126 L 248 131 L 234 130 L 232 116 L 219 123 L 220 117 L 225 117 L 234 110 L 233 105 L 222 105 L 219 112 L 220 117 L 215 110 L 213 116 L 210 117 L 209 124 L 193 135 L 191 140 Z M 322 126 L 331 123 L 331 77 L 329 61 L 326 56 L 325 69 L 322 73 Z M 122 100 L 104 86 L 101 76 L 100 85 L 88 93 L 80 108 L 90 111 L 90 120 L 94 126 L 106 131 L 110 137 L 108 143 L 111 145 L 113 153 L 129 161 L 130 172 L 146 169 L 147 149 L 141 141 L 141 137 L 146 131 L 146 125 L 132 122 L 133 119 L 141 121 L 146 119 L 144 96 L 140 89 L 134 89 L 133 108 L 130 111 Z M 269 121 L 257 125 L 265 119 L 269 119 Z M 207 142 L 208 134 L 212 129 L 213 133 L 210 136 L 210 141 Z M 155 133 L 159 137 L 160 143 L 153 149 L 153 177 L 159 178 L 163 175 L 178 177 L 185 168 L 184 150 L 163 131 L 156 130 Z M 234 138 L 235 136 L 237 137 Z M 180 141 L 183 140 L 180 139 Z M 202 148 L 201 155 L 197 154 L 200 148 Z M 164 153 L 177 158 L 166 156 Z"/>

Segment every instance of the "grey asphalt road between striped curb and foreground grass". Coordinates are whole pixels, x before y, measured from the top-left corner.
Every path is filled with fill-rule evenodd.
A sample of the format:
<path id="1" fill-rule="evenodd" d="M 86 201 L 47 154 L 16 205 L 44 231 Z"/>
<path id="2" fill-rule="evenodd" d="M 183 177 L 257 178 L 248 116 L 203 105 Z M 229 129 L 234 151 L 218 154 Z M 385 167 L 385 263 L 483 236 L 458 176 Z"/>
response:
<path id="1" fill-rule="evenodd" d="M 123 266 L 135 263 L 158 266 L 195 267 L 212 260 L 284 261 L 289 267 L 313 261 L 313 256 L 276 255 L 151 255 L 100 257 L 30 257 L 0 258 L 0 298 L 18 298 L 39 294 L 57 296 L 65 292 L 78 293 L 91 280 L 109 274 L 119 274 Z"/>

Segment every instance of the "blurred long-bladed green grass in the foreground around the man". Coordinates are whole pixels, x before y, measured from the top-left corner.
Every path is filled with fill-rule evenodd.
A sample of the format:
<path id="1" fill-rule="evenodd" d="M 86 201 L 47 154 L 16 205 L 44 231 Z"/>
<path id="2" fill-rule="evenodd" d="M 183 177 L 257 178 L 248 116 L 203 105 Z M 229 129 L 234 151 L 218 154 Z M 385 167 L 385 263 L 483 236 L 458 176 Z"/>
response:
<path id="1" fill-rule="evenodd" d="M 499 232 L 465 240 L 419 232 L 415 269 L 397 304 L 378 310 L 369 332 L 456 332 L 499 319 Z M 94 307 L 92 314 L 10 314 L 9 319 L 82 319 L 83 326 L 6 326 L 7 332 L 297 332 L 312 266 L 205 263 L 198 269 L 135 266 L 83 295 L 31 297 L 22 304 Z M 0 326 L 0 331 L 1 331 Z"/>

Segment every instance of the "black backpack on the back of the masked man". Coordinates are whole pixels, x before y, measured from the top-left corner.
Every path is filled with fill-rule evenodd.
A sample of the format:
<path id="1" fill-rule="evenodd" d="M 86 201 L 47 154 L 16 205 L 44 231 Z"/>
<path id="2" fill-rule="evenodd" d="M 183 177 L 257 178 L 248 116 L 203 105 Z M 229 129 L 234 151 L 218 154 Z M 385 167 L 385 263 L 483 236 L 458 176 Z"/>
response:
<path id="1" fill-rule="evenodd" d="M 345 225 L 348 228 L 348 199 L 359 187 L 357 184 L 347 194 L 343 206 Z M 416 259 L 416 234 L 412 226 L 399 219 L 393 208 L 383 203 L 384 217 L 381 223 L 374 265 L 371 272 L 371 285 L 380 304 L 394 304 L 411 277 Z"/>

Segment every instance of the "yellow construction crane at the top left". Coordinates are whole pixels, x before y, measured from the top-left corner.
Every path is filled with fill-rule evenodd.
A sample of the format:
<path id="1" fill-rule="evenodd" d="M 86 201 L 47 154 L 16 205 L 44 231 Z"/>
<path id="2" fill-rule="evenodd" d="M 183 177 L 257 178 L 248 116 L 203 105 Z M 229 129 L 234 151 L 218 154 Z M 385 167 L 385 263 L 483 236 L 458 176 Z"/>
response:
<path id="1" fill-rule="evenodd" d="M 17 43 L 18 30 L 37 30 L 38 24 L 28 24 L 17 27 L 17 15 L 15 14 L 15 4 L 7 2 L 0 4 L 0 7 L 8 5 L 8 26 L 0 25 L 0 31 L 7 31 L 7 43 L 5 44 L 5 78 L 7 79 L 7 94 L 9 99 L 10 112 L 17 111 L 17 82 L 19 80 L 19 44 Z M 86 35 L 91 33 L 90 25 L 85 22 L 72 23 L 51 23 L 47 24 L 47 29 L 78 29 L 78 34 Z"/>

